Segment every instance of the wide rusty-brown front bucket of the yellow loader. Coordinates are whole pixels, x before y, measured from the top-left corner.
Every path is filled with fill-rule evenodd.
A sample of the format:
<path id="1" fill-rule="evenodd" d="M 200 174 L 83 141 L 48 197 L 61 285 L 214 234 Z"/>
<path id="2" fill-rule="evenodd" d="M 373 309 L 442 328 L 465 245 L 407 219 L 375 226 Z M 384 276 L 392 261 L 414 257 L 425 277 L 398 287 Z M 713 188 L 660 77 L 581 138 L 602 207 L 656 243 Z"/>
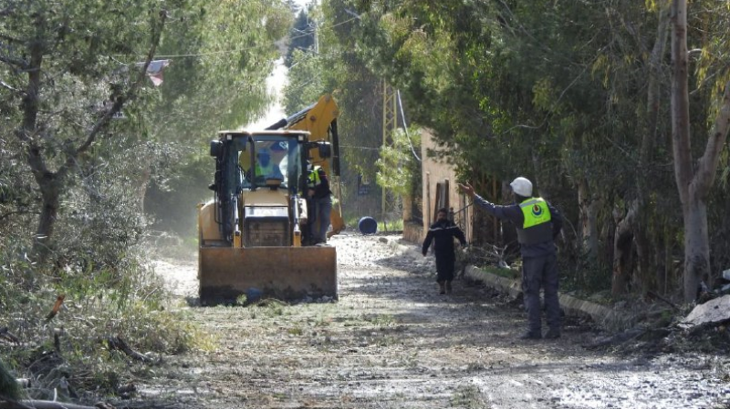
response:
<path id="1" fill-rule="evenodd" d="M 200 248 L 198 280 L 203 305 L 234 302 L 252 290 L 284 301 L 336 299 L 333 247 Z"/>

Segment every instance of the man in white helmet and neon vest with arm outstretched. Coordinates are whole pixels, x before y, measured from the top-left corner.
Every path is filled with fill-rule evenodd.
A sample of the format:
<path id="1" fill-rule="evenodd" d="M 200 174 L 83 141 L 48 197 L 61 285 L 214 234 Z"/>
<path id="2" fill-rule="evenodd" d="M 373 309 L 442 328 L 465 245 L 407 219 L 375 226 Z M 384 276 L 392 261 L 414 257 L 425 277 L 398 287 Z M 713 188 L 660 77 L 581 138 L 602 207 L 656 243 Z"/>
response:
<path id="1" fill-rule="evenodd" d="M 514 205 L 495 205 L 480 197 L 474 188 L 459 184 L 474 203 L 501 220 L 511 220 L 517 227 L 517 241 L 522 254 L 522 290 L 527 309 L 527 333 L 521 339 L 542 338 L 540 288 L 545 291 L 548 330 L 546 339 L 558 339 L 562 319 L 558 301 L 558 255 L 555 238 L 562 229 L 563 219 L 557 209 L 542 198 L 533 197 L 532 182 L 518 177 L 510 184 L 515 195 Z"/>

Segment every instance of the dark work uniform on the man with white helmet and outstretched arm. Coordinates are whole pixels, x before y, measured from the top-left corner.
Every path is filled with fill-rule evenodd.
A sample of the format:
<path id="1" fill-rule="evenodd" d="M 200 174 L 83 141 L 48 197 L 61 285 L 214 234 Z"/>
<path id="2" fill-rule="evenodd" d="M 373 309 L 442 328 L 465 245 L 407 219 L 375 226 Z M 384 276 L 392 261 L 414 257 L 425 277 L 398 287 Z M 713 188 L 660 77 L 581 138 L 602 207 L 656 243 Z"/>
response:
<path id="1" fill-rule="evenodd" d="M 547 326 L 553 332 L 559 333 L 561 318 L 558 301 L 558 256 L 554 239 L 563 227 L 562 216 L 552 205 L 539 198 L 529 198 L 521 204 L 501 206 L 476 195 L 474 203 L 500 220 L 511 220 L 517 227 L 517 241 L 522 254 L 522 290 L 525 292 L 528 332 L 536 335 L 541 333 L 540 288 L 543 288 Z M 536 207 L 540 203 L 547 206 L 549 220 L 526 227 L 527 212 L 535 210 L 534 215 L 545 211 Z"/>

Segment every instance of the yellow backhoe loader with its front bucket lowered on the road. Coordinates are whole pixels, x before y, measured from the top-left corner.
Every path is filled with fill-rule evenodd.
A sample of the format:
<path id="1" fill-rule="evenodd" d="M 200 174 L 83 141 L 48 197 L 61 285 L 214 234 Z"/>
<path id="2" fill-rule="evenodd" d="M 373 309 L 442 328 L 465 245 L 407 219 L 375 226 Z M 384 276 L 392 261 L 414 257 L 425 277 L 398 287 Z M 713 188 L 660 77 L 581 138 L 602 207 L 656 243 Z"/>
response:
<path id="1" fill-rule="evenodd" d="M 338 297 L 335 248 L 303 246 L 309 231 L 308 165 L 328 166 L 331 160 L 328 169 L 339 174 L 336 111 L 324 138 L 314 140 L 310 131 L 293 127 L 327 118 L 313 111 L 318 106 L 266 130 L 220 131 L 211 141 L 214 200 L 198 210 L 201 304 L 232 302 L 242 294 Z"/>

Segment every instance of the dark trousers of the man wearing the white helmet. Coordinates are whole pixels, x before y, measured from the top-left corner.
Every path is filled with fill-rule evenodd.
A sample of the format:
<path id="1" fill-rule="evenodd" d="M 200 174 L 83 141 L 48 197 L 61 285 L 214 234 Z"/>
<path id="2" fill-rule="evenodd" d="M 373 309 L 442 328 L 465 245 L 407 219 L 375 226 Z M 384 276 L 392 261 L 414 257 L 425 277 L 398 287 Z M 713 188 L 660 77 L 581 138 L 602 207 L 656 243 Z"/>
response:
<path id="1" fill-rule="evenodd" d="M 547 326 L 553 330 L 560 330 L 557 262 L 558 257 L 555 253 L 522 259 L 522 291 L 525 294 L 525 309 L 531 333 L 542 332 L 540 288 L 545 291 Z"/>

